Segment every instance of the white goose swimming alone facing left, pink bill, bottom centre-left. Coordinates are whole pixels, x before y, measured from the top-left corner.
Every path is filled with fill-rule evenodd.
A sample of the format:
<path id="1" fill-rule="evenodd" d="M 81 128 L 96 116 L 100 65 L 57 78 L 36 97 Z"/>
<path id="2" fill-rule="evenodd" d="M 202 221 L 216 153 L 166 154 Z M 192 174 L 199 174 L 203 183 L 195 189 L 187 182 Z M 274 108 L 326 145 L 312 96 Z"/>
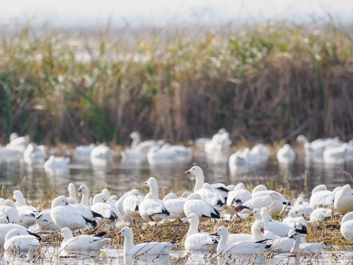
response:
<path id="1" fill-rule="evenodd" d="M 147 242 L 133 245 L 133 232 L 131 228 L 123 227 L 117 235 L 124 236 L 124 254 L 125 255 L 160 255 L 166 254 L 172 250 L 174 243 L 172 242 Z"/>

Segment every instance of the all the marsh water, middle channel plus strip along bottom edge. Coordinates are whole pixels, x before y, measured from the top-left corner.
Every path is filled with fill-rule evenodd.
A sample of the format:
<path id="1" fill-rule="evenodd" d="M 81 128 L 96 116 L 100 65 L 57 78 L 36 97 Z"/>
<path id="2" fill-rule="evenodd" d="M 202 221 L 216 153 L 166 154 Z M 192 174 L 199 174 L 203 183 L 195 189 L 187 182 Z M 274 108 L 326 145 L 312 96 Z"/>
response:
<path id="1" fill-rule="evenodd" d="M 191 190 L 194 179 L 186 175 L 185 171 L 191 166 L 198 165 L 204 170 L 205 182 L 221 182 L 226 185 L 237 184 L 239 182 L 253 185 L 265 184 L 277 188 L 290 185 L 292 191 L 306 193 L 309 195 L 312 188 L 318 184 L 326 184 L 329 190 L 344 184 L 351 184 L 353 173 L 353 163 L 309 163 L 304 159 L 304 153 L 297 154 L 297 159 L 291 164 L 280 164 L 270 157 L 269 161 L 262 164 L 248 165 L 246 167 L 232 168 L 228 165 L 228 157 L 208 156 L 203 152 L 193 152 L 192 158 L 185 163 L 161 163 L 156 165 L 126 164 L 115 161 L 109 166 L 92 166 L 90 163 L 77 163 L 72 161 L 65 170 L 46 171 L 43 165 L 25 165 L 21 160 L 0 161 L 0 178 L 8 189 L 21 189 L 25 193 L 38 195 L 43 192 L 67 195 L 67 185 L 72 182 L 78 189 L 80 184 L 86 184 L 92 193 L 99 192 L 102 188 L 108 188 L 111 194 L 120 197 L 126 191 L 137 188 L 147 188 L 143 185 L 150 176 L 156 177 L 159 184 L 159 192 L 169 193 L 171 191 Z M 332 246 L 331 246 L 332 247 Z M 95 257 L 90 257 L 89 253 L 73 258 L 55 257 L 57 249 L 50 246 L 44 255 L 43 262 L 52 264 L 133 264 L 135 259 L 124 257 L 121 249 L 101 249 Z M 187 259 L 183 251 L 172 251 L 170 255 L 162 255 L 154 259 L 140 258 L 137 264 L 218 264 L 218 263 L 249 263 L 253 258 L 234 257 L 231 260 L 217 259 L 215 254 L 207 252 L 193 253 Z M 324 253 L 313 257 L 313 263 L 319 264 L 347 264 L 352 263 L 353 252 L 351 249 L 324 248 Z M 250 261 L 249 261 L 250 260 Z M 0 264 L 23 263 L 23 258 L 11 257 L 7 259 L 1 257 Z M 255 264 L 300 264 L 307 262 L 307 258 L 289 257 L 285 254 L 277 254 L 272 258 L 259 255 L 255 259 Z M 29 262 L 33 262 L 29 260 Z"/>

